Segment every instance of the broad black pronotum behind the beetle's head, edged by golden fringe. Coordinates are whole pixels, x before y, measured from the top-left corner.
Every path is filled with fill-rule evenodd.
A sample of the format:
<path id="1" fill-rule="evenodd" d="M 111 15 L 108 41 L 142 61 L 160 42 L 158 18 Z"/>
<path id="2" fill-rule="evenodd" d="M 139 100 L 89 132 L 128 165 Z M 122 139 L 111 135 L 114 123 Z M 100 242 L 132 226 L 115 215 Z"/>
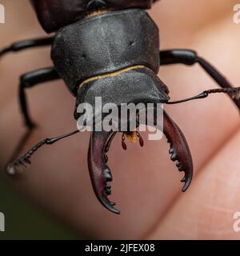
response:
<path id="1" fill-rule="evenodd" d="M 52 59 L 74 94 L 86 79 L 130 66 L 159 68 L 158 27 L 144 10 L 90 15 L 58 31 Z"/>

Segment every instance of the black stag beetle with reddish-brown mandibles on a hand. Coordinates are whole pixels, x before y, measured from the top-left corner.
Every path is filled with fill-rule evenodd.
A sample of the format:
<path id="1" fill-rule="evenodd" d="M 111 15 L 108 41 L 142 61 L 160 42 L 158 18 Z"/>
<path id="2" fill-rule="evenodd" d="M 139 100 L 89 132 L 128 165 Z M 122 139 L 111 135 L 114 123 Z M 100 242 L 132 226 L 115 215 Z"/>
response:
<path id="1" fill-rule="evenodd" d="M 146 13 L 158 0 L 30 0 L 38 15 L 42 28 L 54 37 L 37 38 L 16 42 L 0 51 L 0 56 L 31 47 L 51 46 L 54 67 L 34 70 L 22 75 L 19 85 L 19 101 L 28 133 L 14 152 L 19 154 L 30 131 L 36 126 L 28 112 L 27 88 L 55 79 L 63 79 L 70 93 L 77 98 L 77 104 L 92 102 L 96 96 L 104 96 L 105 102 L 151 102 L 176 104 L 196 98 L 206 98 L 209 94 L 226 93 L 240 108 L 240 88 L 233 88 L 209 62 L 193 50 L 159 51 L 158 27 Z M 222 89 L 206 90 L 192 98 L 170 102 L 167 86 L 158 78 L 160 64 L 198 63 L 218 83 Z M 136 82 L 137 81 L 137 82 Z M 121 88 L 122 94 L 119 97 Z M 74 118 L 79 114 L 75 110 Z M 193 163 L 189 146 L 182 131 L 166 112 L 163 112 L 163 134 L 170 143 L 171 160 L 176 161 L 179 171 L 184 171 L 182 191 L 190 186 Z M 34 146 L 27 154 L 10 163 L 9 174 L 15 174 L 19 166 L 30 164 L 30 158 L 43 145 L 50 145 L 62 138 L 77 134 L 75 130 L 57 138 L 46 138 Z M 88 166 L 94 192 L 106 209 L 115 214 L 119 210 L 110 202 L 112 181 L 110 168 L 106 165 L 106 153 L 116 132 L 91 131 L 88 152 Z M 141 135 L 136 132 L 122 134 L 122 146 L 126 149 L 127 138 L 134 136 L 143 146 Z"/>

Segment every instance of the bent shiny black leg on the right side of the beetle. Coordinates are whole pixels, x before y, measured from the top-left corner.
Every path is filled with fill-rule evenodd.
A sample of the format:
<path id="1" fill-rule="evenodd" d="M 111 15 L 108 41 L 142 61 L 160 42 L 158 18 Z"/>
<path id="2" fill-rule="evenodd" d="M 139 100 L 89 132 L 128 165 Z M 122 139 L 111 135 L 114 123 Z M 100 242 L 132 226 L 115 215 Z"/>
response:
<path id="1" fill-rule="evenodd" d="M 160 51 L 161 65 L 170 65 L 170 64 L 185 64 L 192 66 L 195 63 L 198 63 L 214 79 L 215 82 L 222 88 L 234 88 L 231 86 L 230 82 L 226 80 L 222 74 L 214 68 L 209 62 L 205 59 L 198 56 L 194 50 L 162 50 Z M 230 92 L 230 90 L 229 90 Z M 230 95 L 230 94 L 229 94 Z M 230 95 L 230 98 L 234 101 L 235 105 L 238 106 L 240 110 L 240 99 L 233 98 Z"/>

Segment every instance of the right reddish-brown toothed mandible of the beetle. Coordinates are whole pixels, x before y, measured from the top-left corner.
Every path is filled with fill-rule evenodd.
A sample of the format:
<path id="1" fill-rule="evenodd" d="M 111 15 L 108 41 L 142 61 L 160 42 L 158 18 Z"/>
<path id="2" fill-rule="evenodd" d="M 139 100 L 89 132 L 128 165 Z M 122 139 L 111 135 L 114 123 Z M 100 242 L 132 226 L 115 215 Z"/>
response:
<path id="1" fill-rule="evenodd" d="M 193 177 L 193 162 L 190 154 L 189 146 L 186 142 L 186 138 L 182 134 L 182 130 L 174 123 L 164 111 L 163 114 L 163 133 L 167 138 L 167 142 L 170 143 L 171 160 L 177 161 L 176 166 L 179 171 L 184 171 L 185 176 L 181 182 L 185 182 L 182 191 L 186 191 L 190 186 L 190 182 Z"/>

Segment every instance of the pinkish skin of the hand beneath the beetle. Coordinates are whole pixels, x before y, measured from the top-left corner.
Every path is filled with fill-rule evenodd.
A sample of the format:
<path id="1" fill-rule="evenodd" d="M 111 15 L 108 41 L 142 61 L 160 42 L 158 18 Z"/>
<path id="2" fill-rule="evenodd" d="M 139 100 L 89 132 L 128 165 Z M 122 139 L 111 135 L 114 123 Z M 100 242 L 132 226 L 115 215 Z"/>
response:
<path id="1" fill-rule="evenodd" d="M 9 10 L 0 26 L 0 46 L 44 35 L 26 0 L 2 1 Z M 190 0 L 159 2 L 150 10 L 161 31 L 161 49 L 190 48 L 214 63 L 239 86 L 240 25 L 233 22 L 234 1 Z M 182 10 L 188 10 L 187 12 Z M 51 66 L 49 50 L 10 54 L 0 62 L 1 169 L 24 132 L 18 112 L 18 76 Z M 163 67 L 158 74 L 172 100 L 217 85 L 198 66 Z M 28 91 L 31 114 L 40 125 L 22 153 L 43 138 L 75 130 L 75 99 L 63 82 L 51 82 Z M 234 213 L 240 211 L 239 114 L 226 95 L 166 106 L 178 123 L 194 161 L 194 179 L 182 194 L 182 173 L 170 161 L 166 139 L 145 146 L 121 146 L 121 134 L 112 143 L 109 158 L 114 182 L 110 199 L 121 215 L 105 210 L 94 196 L 87 168 L 89 134 L 78 134 L 46 146 L 32 159 L 21 178 L 10 182 L 34 204 L 90 238 L 239 239 Z"/>

